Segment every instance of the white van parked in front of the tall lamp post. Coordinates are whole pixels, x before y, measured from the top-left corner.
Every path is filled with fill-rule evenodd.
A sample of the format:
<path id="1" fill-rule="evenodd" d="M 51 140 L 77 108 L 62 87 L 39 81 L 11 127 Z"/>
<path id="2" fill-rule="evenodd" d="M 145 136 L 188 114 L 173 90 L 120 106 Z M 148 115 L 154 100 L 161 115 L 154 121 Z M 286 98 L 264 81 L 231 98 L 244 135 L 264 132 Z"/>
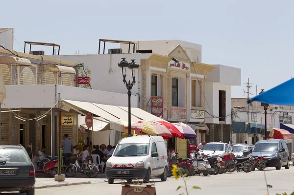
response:
<path id="1" fill-rule="evenodd" d="M 160 176 L 167 180 L 168 155 L 164 139 L 159 136 L 138 135 L 120 140 L 113 155 L 106 162 L 106 178 L 109 184 L 114 179 L 143 178 Z"/>

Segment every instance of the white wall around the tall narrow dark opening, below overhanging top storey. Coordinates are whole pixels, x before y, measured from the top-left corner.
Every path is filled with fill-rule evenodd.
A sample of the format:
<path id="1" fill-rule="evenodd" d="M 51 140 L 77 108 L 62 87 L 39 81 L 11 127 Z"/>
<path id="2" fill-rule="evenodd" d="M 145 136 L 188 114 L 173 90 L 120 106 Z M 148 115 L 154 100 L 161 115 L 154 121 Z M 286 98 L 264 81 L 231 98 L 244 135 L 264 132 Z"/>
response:
<path id="1" fill-rule="evenodd" d="M 220 83 L 205 83 L 205 98 L 207 103 L 205 103 L 205 109 L 214 116 L 219 117 L 219 91 L 225 91 L 225 107 L 226 116 L 231 113 L 231 86 L 224 85 Z M 211 110 L 210 110 L 211 109 Z M 205 112 L 205 123 L 220 123 L 219 118 L 212 118 L 208 113 Z M 227 116 L 225 124 L 232 124 L 231 116 Z"/>

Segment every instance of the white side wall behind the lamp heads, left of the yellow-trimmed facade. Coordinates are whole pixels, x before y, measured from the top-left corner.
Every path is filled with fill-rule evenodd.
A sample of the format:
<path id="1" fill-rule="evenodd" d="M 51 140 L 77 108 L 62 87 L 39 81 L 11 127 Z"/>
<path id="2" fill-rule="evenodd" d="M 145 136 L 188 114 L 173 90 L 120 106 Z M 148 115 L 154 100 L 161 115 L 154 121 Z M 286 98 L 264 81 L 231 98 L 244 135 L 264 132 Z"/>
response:
<path id="1" fill-rule="evenodd" d="M 135 59 L 137 64 L 140 64 L 141 59 L 147 59 L 151 54 L 93 54 L 93 55 L 58 55 L 46 56 L 49 58 L 58 58 L 60 60 L 84 63 L 85 66 L 92 72 L 91 85 L 93 89 L 101 91 L 110 91 L 115 93 L 127 94 L 125 84 L 123 84 L 122 69 L 118 64 L 122 61 L 121 58 L 126 57 L 128 62 Z M 140 67 L 140 66 L 139 66 Z M 131 71 L 127 69 L 126 80 L 132 81 Z M 138 81 L 142 76 L 136 71 L 136 84 L 133 87 L 132 95 L 138 93 Z M 139 80 L 138 80 L 139 78 Z"/>

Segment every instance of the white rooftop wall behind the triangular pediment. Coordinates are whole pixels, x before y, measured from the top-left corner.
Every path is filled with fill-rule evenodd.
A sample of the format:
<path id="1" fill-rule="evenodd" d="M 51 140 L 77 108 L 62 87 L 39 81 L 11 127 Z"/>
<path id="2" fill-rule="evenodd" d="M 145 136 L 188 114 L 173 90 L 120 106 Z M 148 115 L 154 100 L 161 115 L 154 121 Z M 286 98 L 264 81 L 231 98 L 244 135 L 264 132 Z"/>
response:
<path id="1" fill-rule="evenodd" d="M 180 44 L 181 47 L 186 51 L 192 62 L 201 62 L 202 46 L 196 43 L 190 43 L 180 40 L 159 40 L 159 41 L 136 41 L 136 50 L 149 50 L 159 55 L 165 55 L 175 44 Z M 128 53 L 128 44 L 121 44 L 123 53 Z M 130 53 L 132 53 L 132 46 Z"/>

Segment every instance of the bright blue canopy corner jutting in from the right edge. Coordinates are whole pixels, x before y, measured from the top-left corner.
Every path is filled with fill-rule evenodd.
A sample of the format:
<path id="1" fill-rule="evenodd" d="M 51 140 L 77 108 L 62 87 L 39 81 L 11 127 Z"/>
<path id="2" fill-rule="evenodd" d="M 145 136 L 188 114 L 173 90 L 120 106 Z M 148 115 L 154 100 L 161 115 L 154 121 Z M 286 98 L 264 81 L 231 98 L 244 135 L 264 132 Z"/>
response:
<path id="1" fill-rule="evenodd" d="M 248 99 L 247 104 L 253 101 L 264 104 L 294 106 L 294 78 Z"/>

